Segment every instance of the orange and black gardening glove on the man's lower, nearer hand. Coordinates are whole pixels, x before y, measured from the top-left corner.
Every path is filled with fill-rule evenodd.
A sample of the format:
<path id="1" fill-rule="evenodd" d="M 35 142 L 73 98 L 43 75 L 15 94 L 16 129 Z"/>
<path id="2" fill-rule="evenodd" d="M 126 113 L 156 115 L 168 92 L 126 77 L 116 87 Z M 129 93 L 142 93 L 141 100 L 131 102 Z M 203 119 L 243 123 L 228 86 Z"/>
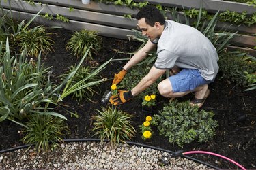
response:
<path id="1" fill-rule="evenodd" d="M 112 105 L 122 105 L 123 103 L 126 103 L 127 101 L 130 101 L 130 99 L 133 98 L 131 90 L 118 90 L 118 92 L 119 93 L 117 95 L 113 95 L 109 99 L 109 102 Z"/>

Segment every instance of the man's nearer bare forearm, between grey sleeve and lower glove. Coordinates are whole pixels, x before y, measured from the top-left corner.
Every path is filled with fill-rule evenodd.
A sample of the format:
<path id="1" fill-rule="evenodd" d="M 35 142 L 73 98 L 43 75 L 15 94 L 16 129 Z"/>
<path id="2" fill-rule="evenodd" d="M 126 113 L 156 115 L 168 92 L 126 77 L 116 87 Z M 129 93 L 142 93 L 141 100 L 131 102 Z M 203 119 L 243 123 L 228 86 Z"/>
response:
<path id="1" fill-rule="evenodd" d="M 143 92 L 146 88 L 148 88 L 151 84 L 156 82 L 158 78 L 160 78 L 161 75 L 165 73 L 165 69 L 156 69 L 155 66 L 153 66 L 150 69 L 150 72 L 141 79 L 141 82 L 137 84 L 134 88 L 132 88 L 132 96 L 139 95 L 139 93 Z"/>

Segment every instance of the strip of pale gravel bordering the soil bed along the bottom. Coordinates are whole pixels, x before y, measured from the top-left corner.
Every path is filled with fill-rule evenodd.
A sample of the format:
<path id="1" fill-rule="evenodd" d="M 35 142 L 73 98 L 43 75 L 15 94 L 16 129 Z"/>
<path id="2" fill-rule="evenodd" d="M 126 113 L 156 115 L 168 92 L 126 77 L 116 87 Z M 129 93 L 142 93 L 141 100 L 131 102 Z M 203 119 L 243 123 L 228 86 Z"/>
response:
<path id="1" fill-rule="evenodd" d="M 106 142 L 62 143 L 52 152 L 23 148 L 0 154 L 0 169 L 211 169 L 187 158 L 161 160 L 167 152 Z"/>

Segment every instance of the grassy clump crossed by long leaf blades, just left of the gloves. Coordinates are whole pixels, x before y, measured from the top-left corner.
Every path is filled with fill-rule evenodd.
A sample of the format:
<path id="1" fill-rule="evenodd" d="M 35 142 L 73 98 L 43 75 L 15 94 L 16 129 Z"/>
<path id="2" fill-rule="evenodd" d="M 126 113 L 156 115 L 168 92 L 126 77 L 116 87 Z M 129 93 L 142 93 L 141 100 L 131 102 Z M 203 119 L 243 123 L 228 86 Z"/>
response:
<path id="1" fill-rule="evenodd" d="M 76 67 L 71 66 L 71 68 L 69 68 L 69 70 L 66 71 L 66 73 L 61 75 L 61 79 L 63 80 L 63 78 L 66 78 L 70 73 L 72 73 L 74 71 L 75 68 Z M 70 86 L 74 86 L 81 80 L 88 77 L 86 79 L 86 81 L 83 81 L 81 84 L 79 84 L 79 86 L 76 87 L 76 88 L 79 88 L 79 90 L 76 90 L 72 94 L 72 97 L 74 97 L 75 99 L 78 99 L 78 101 L 81 101 L 82 99 L 88 99 L 89 101 L 91 101 L 91 97 L 94 96 L 95 93 L 98 94 L 97 91 L 99 90 L 98 85 L 100 84 L 100 82 L 98 82 L 98 84 L 94 84 L 94 86 L 87 86 L 87 88 L 80 89 L 81 86 L 85 86 L 86 84 L 89 84 L 91 82 L 96 82 L 101 79 L 100 75 L 98 75 L 98 74 L 89 76 L 89 75 L 91 75 L 91 72 L 92 72 L 91 67 L 81 66 L 76 71 L 76 74 L 74 74 L 74 77 L 72 78 L 72 80 L 70 82 Z"/>

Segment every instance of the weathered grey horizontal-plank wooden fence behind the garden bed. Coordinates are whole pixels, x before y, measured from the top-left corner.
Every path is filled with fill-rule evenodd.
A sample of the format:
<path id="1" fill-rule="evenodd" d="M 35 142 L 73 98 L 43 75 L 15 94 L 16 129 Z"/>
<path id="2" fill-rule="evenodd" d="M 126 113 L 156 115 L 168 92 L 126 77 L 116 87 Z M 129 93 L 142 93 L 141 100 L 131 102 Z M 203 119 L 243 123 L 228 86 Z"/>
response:
<path id="1" fill-rule="evenodd" d="M 125 14 L 131 14 L 135 16 L 138 9 L 130 9 L 128 7 L 122 7 L 117 5 L 106 5 L 104 3 L 98 3 L 91 1 L 91 3 L 84 5 L 81 0 L 40 0 L 35 1 L 34 5 L 30 5 L 24 0 L 7 0 L 1 1 L 1 6 L 5 12 L 12 10 L 12 16 L 16 19 L 30 20 L 37 12 L 42 10 L 40 14 L 53 15 L 53 20 L 38 16 L 35 18 L 35 22 L 59 26 L 68 30 L 77 31 L 81 29 L 89 29 L 98 31 L 99 35 L 107 37 L 115 37 L 119 39 L 128 39 L 127 35 L 133 34 L 132 29 L 136 29 L 137 20 L 134 18 L 125 18 Z M 136 0 L 135 0 L 136 1 Z M 139 0 L 137 0 L 139 1 Z M 203 9 L 209 12 L 231 10 L 236 12 L 246 11 L 248 14 L 255 12 L 255 7 L 246 5 L 244 3 L 233 3 L 229 1 L 219 0 L 150 0 L 152 4 L 165 5 L 167 7 L 184 7 L 184 8 L 197 8 L 202 5 Z M 72 9 L 72 10 L 70 10 Z M 62 22 L 56 20 L 57 14 L 65 16 L 69 19 L 69 22 Z M 182 18 L 182 14 L 180 14 Z M 169 15 L 171 19 L 171 15 Z M 246 27 L 230 26 L 228 23 L 218 23 L 218 27 L 224 27 L 227 30 L 235 30 L 240 33 L 241 36 L 233 39 L 235 46 L 230 46 L 231 50 L 240 48 L 256 56 L 256 50 L 253 47 L 256 46 L 255 36 L 256 26 Z"/>

